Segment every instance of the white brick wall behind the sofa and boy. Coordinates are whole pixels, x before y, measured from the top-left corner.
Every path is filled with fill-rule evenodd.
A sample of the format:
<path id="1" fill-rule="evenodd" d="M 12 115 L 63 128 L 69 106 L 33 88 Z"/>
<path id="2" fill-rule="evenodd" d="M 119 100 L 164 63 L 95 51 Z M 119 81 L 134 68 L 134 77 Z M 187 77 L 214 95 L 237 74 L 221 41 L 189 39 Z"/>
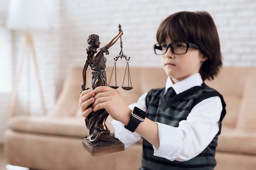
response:
<path id="1" fill-rule="evenodd" d="M 9 0 L 1 2 L 0 24 L 6 22 Z M 47 32 L 33 33 L 40 78 L 47 111 L 50 112 L 61 91 L 67 71 L 83 66 L 86 58 L 87 38 L 100 36 L 104 46 L 118 33 L 121 24 L 124 54 L 131 57 L 130 66 L 161 67 L 159 57 L 153 53 L 157 27 L 164 18 L 177 11 L 208 11 L 218 28 L 224 65 L 256 66 L 256 1 L 254 0 L 54 0 L 52 21 Z M 16 65 L 22 39 L 21 32 L 11 32 L 10 58 Z M 107 66 L 119 54 L 119 41 L 110 48 Z M 125 63 L 117 63 L 125 67 Z M 15 67 L 11 71 L 15 71 Z M 41 114 L 36 79 L 31 74 L 31 97 L 27 96 L 27 68 L 23 70 L 16 114 L 26 114 L 27 101 L 31 111 Z M 82 83 L 82 82 L 81 82 Z M 25 99 L 25 100 L 24 100 Z M 0 107 L 3 102 L 0 99 Z M 7 111 L 0 113 L 0 124 Z M 0 134 L 1 142 L 1 134 Z"/>

